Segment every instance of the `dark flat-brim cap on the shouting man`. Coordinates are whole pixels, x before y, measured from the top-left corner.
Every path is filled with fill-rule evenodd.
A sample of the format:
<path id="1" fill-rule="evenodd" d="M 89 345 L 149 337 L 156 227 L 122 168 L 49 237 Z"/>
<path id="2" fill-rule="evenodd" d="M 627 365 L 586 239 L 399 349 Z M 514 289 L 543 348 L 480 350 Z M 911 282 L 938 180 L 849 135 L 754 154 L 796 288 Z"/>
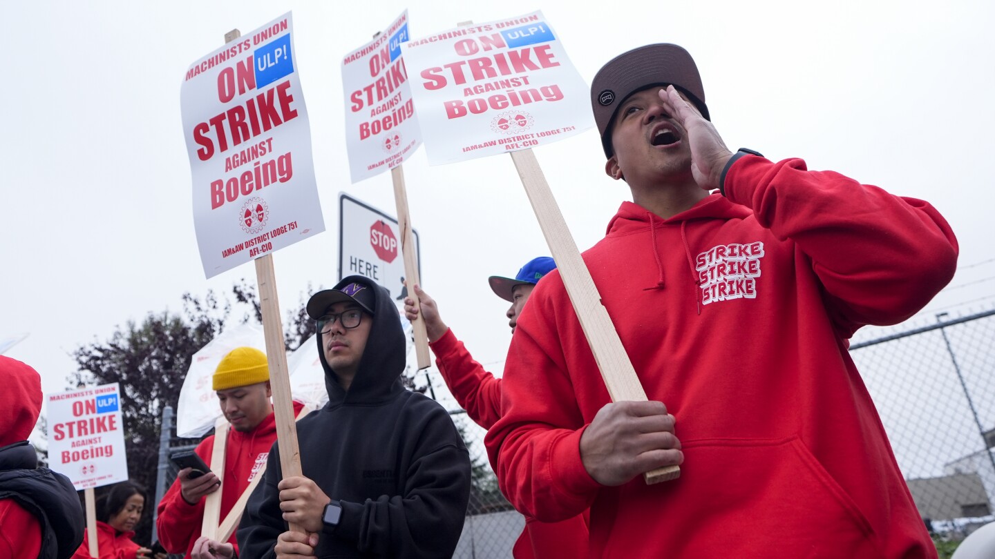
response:
<path id="1" fill-rule="evenodd" d="M 591 108 L 605 156 L 612 156 L 612 120 L 629 95 L 653 86 L 674 86 L 688 95 L 701 116 L 710 120 L 695 59 L 670 43 L 647 45 L 623 53 L 601 67 L 591 83 Z"/>

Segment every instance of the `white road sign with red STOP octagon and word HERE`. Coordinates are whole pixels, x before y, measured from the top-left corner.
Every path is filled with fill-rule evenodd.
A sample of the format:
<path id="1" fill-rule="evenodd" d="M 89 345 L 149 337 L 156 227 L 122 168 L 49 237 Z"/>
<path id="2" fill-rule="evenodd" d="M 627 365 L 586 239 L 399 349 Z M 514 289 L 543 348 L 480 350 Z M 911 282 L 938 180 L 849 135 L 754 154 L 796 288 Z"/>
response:
<path id="1" fill-rule="evenodd" d="M 402 283 L 404 259 L 397 220 L 344 193 L 338 195 L 338 216 L 338 279 L 365 276 L 387 287 L 390 296 L 403 305 L 408 290 Z M 415 255 L 420 256 L 418 232 L 412 230 L 412 235 Z"/>

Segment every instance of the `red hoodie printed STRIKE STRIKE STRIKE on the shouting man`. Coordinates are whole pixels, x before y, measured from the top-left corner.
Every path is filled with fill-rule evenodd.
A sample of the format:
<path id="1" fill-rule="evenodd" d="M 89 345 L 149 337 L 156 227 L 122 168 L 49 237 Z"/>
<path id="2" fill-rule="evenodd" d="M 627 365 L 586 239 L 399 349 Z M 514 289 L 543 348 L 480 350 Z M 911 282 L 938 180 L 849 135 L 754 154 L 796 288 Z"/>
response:
<path id="1" fill-rule="evenodd" d="M 623 203 L 584 254 L 648 397 L 677 418 L 681 477 L 587 473 L 580 437 L 610 400 L 554 272 L 518 319 L 486 440 L 501 489 L 547 521 L 590 506 L 592 557 L 935 557 L 847 340 L 950 280 L 949 226 L 800 159 L 742 157 L 725 194 L 668 220 Z"/>

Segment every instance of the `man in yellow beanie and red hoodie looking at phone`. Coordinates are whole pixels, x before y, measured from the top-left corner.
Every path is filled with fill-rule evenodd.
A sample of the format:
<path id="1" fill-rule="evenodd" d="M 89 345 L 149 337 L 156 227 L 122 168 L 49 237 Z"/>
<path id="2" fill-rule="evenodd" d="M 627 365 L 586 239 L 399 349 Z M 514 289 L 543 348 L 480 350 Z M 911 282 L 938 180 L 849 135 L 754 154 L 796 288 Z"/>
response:
<path id="1" fill-rule="evenodd" d="M 270 447 L 277 440 L 277 424 L 270 403 L 270 367 L 266 354 L 254 347 L 237 347 L 230 351 L 212 376 L 212 388 L 225 419 L 231 424 L 225 447 L 224 484 L 214 471 L 203 466 L 181 467 L 176 480 L 163 495 L 158 506 L 156 529 L 159 543 L 169 553 L 191 556 L 200 537 L 204 519 L 204 497 L 221 491 L 221 517 L 231 511 L 235 501 L 266 464 Z M 294 403 L 295 412 L 303 406 Z M 211 466 L 214 436 L 201 441 L 194 451 L 204 466 Z M 228 540 L 235 549 L 235 535 Z"/>

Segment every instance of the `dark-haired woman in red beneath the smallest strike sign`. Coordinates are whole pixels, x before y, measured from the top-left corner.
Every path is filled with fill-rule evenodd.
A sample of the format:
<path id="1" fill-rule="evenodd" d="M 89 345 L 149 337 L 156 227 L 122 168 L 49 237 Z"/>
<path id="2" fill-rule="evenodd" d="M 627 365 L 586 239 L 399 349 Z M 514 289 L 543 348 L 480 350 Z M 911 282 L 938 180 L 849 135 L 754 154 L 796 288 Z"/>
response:
<path id="1" fill-rule="evenodd" d="M 134 481 L 121 481 L 105 490 L 97 499 L 98 559 L 166 559 L 165 553 L 153 553 L 131 540 L 144 510 L 145 489 Z M 94 559 L 89 538 L 89 532 L 84 532 L 73 559 Z"/>

